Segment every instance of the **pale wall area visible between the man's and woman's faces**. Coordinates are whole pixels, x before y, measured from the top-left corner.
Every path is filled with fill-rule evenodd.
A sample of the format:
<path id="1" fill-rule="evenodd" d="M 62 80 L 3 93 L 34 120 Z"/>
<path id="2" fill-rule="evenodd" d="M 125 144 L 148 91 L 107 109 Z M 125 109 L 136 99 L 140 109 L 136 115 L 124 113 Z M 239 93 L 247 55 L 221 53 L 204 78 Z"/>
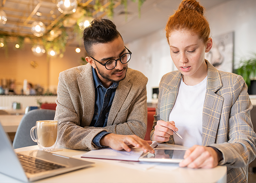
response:
<path id="1" fill-rule="evenodd" d="M 170 57 L 170 49 L 165 38 L 164 28 L 129 43 L 131 61 L 129 67 L 142 72 L 148 79 L 147 97 L 152 101 L 152 88 L 158 87 L 164 74 L 176 69 Z"/>

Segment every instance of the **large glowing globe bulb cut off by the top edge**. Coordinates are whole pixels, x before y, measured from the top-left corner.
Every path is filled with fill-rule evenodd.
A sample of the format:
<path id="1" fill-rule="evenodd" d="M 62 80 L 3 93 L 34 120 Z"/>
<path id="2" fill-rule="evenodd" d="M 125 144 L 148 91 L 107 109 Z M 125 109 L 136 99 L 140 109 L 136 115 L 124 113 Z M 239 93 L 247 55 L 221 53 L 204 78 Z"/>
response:
<path id="1" fill-rule="evenodd" d="M 63 14 L 71 14 L 77 10 L 77 0 L 58 0 L 57 8 Z"/>

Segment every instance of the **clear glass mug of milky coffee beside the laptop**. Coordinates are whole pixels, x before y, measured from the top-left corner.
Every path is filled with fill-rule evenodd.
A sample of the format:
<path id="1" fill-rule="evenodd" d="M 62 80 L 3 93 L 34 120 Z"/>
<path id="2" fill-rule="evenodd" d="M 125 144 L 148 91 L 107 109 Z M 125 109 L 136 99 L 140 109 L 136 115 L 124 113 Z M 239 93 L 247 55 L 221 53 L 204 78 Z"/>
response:
<path id="1" fill-rule="evenodd" d="M 44 120 L 37 121 L 36 126 L 31 128 L 30 136 L 34 142 L 37 142 L 39 150 L 54 150 L 58 140 L 58 127 L 58 121 Z"/>

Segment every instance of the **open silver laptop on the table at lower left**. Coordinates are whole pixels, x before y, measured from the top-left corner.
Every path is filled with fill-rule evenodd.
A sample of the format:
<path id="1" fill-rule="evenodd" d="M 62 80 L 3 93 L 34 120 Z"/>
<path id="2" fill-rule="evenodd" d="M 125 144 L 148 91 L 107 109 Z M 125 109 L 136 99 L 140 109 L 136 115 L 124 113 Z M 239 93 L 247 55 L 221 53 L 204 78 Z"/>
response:
<path id="1" fill-rule="evenodd" d="M 57 174 L 63 174 L 93 164 L 88 161 L 39 150 L 15 153 L 11 141 L 3 130 L 1 123 L 0 162 L 0 173 L 21 180 L 22 182 L 31 182 Z"/>

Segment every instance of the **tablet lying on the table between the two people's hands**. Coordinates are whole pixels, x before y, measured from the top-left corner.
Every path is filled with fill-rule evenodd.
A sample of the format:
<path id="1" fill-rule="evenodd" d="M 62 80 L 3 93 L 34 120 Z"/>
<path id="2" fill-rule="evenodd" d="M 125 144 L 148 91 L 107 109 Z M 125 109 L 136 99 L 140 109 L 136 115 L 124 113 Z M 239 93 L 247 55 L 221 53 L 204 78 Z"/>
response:
<path id="1" fill-rule="evenodd" d="M 184 160 L 186 150 L 176 149 L 155 149 L 155 154 L 143 154 L 139 161 L 159 162 L 159 163 L 179 163 Z"/>

